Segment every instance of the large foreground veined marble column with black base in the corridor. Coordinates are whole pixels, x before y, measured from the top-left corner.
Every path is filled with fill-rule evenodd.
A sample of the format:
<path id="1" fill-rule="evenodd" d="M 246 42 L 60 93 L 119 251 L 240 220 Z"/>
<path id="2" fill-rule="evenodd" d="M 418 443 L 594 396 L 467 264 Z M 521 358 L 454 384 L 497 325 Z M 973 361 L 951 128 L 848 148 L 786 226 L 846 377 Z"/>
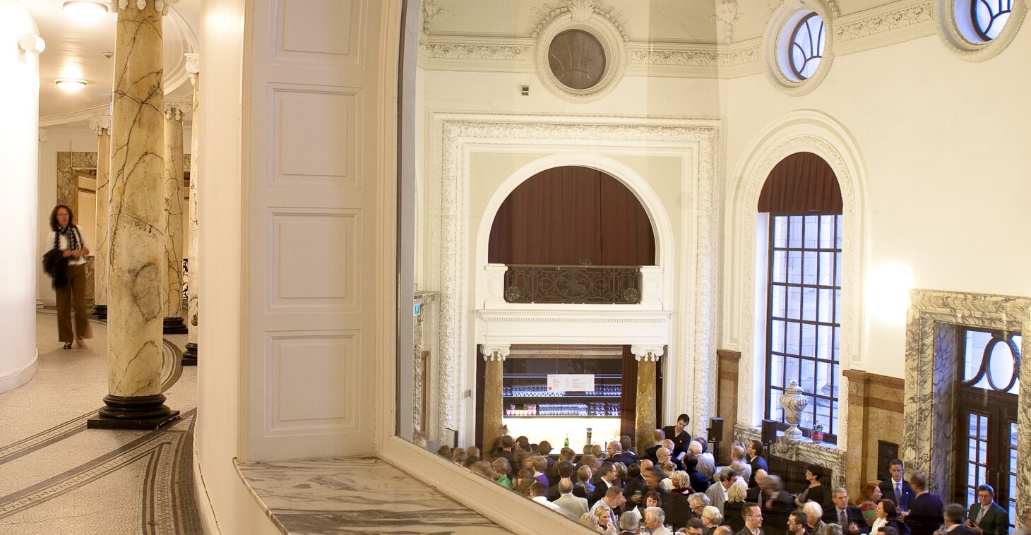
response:
<path id="1" fill-rule="evenodd" d="M 108 395 L 90 428 L 158 429 L 179 416 L 161 393 L 164 360 L 160 0 L 119 0 L 108 222 Z M 159 10 L 159 7 L 161 10 Z"/>

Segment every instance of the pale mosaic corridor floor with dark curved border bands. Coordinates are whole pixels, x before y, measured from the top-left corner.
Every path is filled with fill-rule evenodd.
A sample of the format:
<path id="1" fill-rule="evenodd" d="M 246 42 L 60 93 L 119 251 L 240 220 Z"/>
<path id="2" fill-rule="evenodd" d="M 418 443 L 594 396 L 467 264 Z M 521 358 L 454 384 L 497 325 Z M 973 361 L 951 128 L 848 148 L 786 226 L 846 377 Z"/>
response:
<path id="1" fill-rule="evenodd" d="M 197 369 L 165 395 L 181 411 L 160 431 L 87 430 L 107 394 L 106 326 L 65 350 L 37 313 L 38 371 L 0 394 L 0 535 L 199 534 L 193 494 Z M 186 335 L 167 335 L 178 345 Z"/>

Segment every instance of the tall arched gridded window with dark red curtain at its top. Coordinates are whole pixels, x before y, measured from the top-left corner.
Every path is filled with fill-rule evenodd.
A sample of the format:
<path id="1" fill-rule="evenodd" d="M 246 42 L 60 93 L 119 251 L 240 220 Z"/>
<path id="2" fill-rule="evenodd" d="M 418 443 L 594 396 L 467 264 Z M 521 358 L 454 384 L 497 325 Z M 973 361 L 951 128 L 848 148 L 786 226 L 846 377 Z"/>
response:
<path id="1" fill-rule="evenodd" d="M 841 191 L 811 153 L 778 163 L 758 209 L 769 214 L 766 278 L 765 417 L 787 428 L 780 396 L 797 382 L 809 399 L 798 427 L 825 440 L 838 433 L 840 382 Z M 816 426 L 822 428 L 816 428 Z"/>

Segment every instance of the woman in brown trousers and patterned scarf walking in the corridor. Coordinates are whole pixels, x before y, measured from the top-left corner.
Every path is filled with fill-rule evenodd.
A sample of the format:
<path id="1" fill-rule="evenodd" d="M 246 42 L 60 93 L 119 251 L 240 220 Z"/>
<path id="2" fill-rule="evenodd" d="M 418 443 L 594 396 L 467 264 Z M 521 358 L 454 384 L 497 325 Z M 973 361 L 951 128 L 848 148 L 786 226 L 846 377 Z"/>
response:
<path id="1" fill-rule="evenodd" d="M 82 237 L 82 229 L 75 225 L 71 208 L 59 204 L 51 211 L 51 233 L 46 241 L 68 259 L 67 276 L 63 285 L 55 288 L 58 299 L 58 338 L 70 349 L 74 341 L 86 347 L 85 338 L 93 338 L 90 317 L 86 312 L 86 257 L 90 247 Z M 71 310 L 75 309 L 75 329 L 72 330 Z"/>

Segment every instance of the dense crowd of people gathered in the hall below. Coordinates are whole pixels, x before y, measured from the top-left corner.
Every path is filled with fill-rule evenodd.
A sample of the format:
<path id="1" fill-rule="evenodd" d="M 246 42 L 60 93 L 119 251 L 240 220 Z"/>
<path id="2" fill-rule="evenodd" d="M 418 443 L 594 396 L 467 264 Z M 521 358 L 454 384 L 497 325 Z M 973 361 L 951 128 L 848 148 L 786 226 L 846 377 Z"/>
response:
<path id="1" fill-rule="evenodd" d="M 785 489 L 770 473 L 758 440 L 735 442 L 730 464 L 718 467 L 703 439 L 687 432 L 690 419 L 656 430 L 654 444 L 637 452 L 630 437 L 589 444 L 581 454 L 547 441 L 501 436 L 489 452 L 440 446 L 438 455 L 601 533 L 671 535 L 1006 535 L 1009 514 L 994 490 L 977 488 L 969 508 L 945 505 L 929 493 L 927 476 L 906 479 L 902 461 L 891 477 L 869 482 L 855 502 L 831 489 L 823 468 L 806 467 L 806 484 Z M 1028 535 L 1031 508 L 1015 535 Z"/>

